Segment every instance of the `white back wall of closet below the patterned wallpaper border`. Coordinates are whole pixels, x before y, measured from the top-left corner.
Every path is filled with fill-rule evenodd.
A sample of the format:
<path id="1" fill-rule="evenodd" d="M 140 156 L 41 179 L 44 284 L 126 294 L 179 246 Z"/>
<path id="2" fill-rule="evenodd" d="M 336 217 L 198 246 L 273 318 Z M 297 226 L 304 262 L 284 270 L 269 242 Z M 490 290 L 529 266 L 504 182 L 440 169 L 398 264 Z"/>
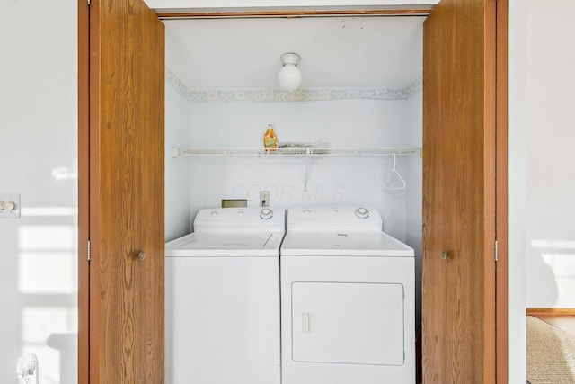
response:
<path id="1" fill-rule="evenodd" d="M 405 147 L 405 100 L 339 100 L 306 103 L 190 103 L 193 147 L 261 148 L 267 123 L 279 142 L 323 147 Z M 259 204 L 270 191 L 272 207 L 376 206 L 385 230 L 405 240 L 405 190 L 385 190 L 390 156 L 192 157 L 191 210 L 219 206 L 221 199 Z M 397 157 L 405 177 L 405 158 Z M 307 184 L 305 185 L 306 167 Z"/>

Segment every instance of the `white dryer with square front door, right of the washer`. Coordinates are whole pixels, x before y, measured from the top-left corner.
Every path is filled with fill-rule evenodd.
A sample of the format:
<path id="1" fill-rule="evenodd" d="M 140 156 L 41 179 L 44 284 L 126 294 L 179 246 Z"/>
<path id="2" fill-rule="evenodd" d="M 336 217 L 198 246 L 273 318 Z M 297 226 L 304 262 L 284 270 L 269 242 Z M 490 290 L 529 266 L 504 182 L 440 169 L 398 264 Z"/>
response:
<path id="1" fill-rule="evenodd" d="M 288 210 L 282 384 L 415 383 L 414 268 L 375 208 Z"/>

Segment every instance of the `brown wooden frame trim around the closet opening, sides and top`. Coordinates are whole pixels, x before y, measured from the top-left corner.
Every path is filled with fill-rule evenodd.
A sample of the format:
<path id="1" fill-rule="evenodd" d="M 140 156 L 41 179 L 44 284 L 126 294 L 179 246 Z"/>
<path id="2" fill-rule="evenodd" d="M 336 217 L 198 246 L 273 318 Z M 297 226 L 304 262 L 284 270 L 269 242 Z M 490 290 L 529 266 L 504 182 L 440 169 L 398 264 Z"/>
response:
<path id="1" fill-rule="evenodd" d="M 495 1 L 495 0 L 493 0 Z M 237 17 L 332 17 L 332 16 L 426 16 L 429 7 L 380 6 L 347 9 L 346 7 L 305 7 L 290 10 L 281 7 L 244 7 L 241 9 L 213 8 L 209 12 L 188 9 L 154 10 L 158 18 L 237 18 Z M 88 261 L 89 222 L 89 58 L 90 15 L 85 0 L 78 0 L 78 383 L 89 383 L 89 303 L 90 269 Z M 499 383 L 509 378 L 508 332 L 508 14 L 509 0 L 497 1 L 496 59 L 496 238 L 499 261 L 496 267 L 496 373 Z"/>

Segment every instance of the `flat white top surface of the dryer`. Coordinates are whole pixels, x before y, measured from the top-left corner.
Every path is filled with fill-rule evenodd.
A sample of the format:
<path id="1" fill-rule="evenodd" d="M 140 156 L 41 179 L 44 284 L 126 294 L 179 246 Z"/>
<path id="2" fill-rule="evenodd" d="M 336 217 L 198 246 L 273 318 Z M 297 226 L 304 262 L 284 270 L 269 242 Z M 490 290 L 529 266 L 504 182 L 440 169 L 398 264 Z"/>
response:
<path id="1" fill-rule="evenodd" d="M 385 232 L 290 231 L 281 256 L 382 256 L 414 257 L 413 248 Z"/>

